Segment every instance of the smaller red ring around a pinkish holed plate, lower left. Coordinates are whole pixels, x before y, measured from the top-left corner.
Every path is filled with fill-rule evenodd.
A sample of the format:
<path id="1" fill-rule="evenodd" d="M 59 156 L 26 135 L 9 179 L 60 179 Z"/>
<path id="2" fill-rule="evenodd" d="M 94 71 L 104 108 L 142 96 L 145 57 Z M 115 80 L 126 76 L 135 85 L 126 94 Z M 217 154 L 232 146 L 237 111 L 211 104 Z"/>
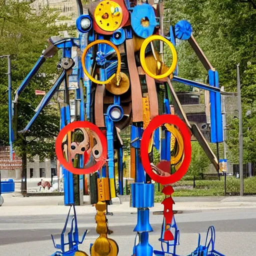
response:
<path id="1" fill-rule="evenodd" d="M 100 139 L 101 145 L 102 145 L 102 154 L 100 156 L 100 159 L 97 159 L 97 162 L 90 166 L 89 168 L 75 168 L 73 167 L 72 163 L 68 163 L 63 155 L 62 151 L 62 141 L 64 136 L 67 134 L 68 131 L 72 131 L 76 128 L 89 128 L 92 131 L 94 131 Z M 74 121 L 66 126 L 64 126 L 58 133 L 56 142 L 55 142 L 55 152 L 57 159 L 59 160 L 59 163 L 68 171 L 72 172 L 73 174 L 89 174 L 91 172 L 94 172 L 98 170 L 100 167 L 103 166 L 107 159 L 107 144 L 106 144 L 106 137 L 102 133 L 102 131 L 93 123 L 88 121 Z"/>

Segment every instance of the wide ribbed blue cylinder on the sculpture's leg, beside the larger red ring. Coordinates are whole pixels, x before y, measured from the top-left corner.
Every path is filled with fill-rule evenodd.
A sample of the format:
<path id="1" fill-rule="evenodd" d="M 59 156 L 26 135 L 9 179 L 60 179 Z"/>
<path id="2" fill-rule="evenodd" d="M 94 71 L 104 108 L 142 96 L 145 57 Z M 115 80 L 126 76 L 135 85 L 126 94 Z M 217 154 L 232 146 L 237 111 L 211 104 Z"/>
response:
<path id="1" fill-rule="evenodd" d="M 154 206 L 154 185 L 145 183 L 131 184 L 131 206 L 150 208 Z"/>

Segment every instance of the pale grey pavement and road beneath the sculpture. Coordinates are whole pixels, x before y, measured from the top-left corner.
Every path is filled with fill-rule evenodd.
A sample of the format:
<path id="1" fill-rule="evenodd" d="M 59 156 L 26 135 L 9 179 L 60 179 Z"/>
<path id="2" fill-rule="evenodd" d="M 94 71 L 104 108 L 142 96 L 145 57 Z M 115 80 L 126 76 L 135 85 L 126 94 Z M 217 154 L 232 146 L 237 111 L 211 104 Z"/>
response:
<path id="1" fill-rule="evenodd" d="M 54 252 L 50 234 L 60 234 L 68 211 L 61 204 L 62 196 L 20 197 L 6 194 L 0 207 L 0 256 L 47 256 Z M 189 254 L 197 246 L 197 233 L 205 232 L 209 225 L 216 229 L 215 247 L 228 255 L 254 256 L 256 240 L 256 197 L 176 197 L 174 209 L 180 229 L 180 245 L 177 253 Z M 162 215 L 153 211 L 162 210 L 160 203 L 150 209 L 150 224 L 153 232 L 150 244 L 160 249 L 158 241 Z M 79 232 L 89 229 L 80 249 L 89 252 L 89 244 L 97 234 L 94 221 L 95 208 L 91 205 L 77 206 Z M 134 244 L 136 209 L 129 202 L 109 206 L 113 216 L 108 216 L 110 235 L 119 245 L 120 256 L 131 256 Z"/>

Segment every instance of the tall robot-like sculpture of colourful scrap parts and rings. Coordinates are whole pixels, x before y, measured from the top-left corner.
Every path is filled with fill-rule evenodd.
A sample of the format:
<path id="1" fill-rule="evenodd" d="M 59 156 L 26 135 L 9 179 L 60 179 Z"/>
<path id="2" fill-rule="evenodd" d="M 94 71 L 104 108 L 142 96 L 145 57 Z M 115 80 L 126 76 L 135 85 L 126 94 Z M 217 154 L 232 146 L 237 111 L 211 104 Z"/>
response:
<path id="1" fill-rule="evenodd" d="M 77 38 L 51 37 L 30 73 L 15 92 L 12 109 L 10 143 L 16 137 L 18 122 L 18 96 L 27 86 L 46 58 L 62 51 L 58 64 L 59 77 L 42 98 L 33 118 L 20 133 L 28 132 L 35 118 L 54 93 L 64 84 L 64 102 L 60 107 L 60 132 L 56 139 L 56 155 L 64 178 L 64 203 L 74 205 L 74 184 L 79 179 L 82 189 L 85 174 L 90 174 L 92 203 L 96 204 L 97 232 L 100 234 L 91 246 L 91 255 L 117 255 L 117 244 L 107 238 L 105 219 L 106 203 L 116 196 L 114 153 L 118 155 L 119 193 L 123 193 L 122 155 L 120 131 L 130 126 L 130 173 L 135 182 L 131 185 L 132 207 L 137 208 L 134 231 L 139 237 L 133 247 L 133 256 L 176 255 L 177 229 L 171 198 L 171 184 L 186 173 L 191 158 L 193 135 L 216 169 L 218 159 L 207 144 L 200 129 L 190 123 L 171 85 L 178 81 L 209 91 L 211 142 L 222 141 L 222 116 L 218 73 L 212 67 L 192 36 L 192 27 L 186 20 L 170 25 L 163 33 L 164 5 L 159 0 L 136 2 L 133 0 L 93 1 L 83 14 L 77 0 L 79 17 Z M 199 83 L 178 76 L 175 41 L 187 40 L 208 72 L 208 83 Z M 165 48 L 164 43 L 167 45 Z M 72 55 L 76 48 L 78 54 Z M 171 53 L 166 59 L 164 53 Z M 170 62 L 170 63 L 169 63 Z M 69 84 L 75 82 L 75 87 Z M 70 116 L 70 91 L 74 91 L 75 115 Z M 159 91 L 164 93 L 163 98 Z M 11 105 L 11 102 L 9 102 Z M 73 121 L 74 120 L 74 121 Z M 153 148 L 160 151 L 160 162 L 153 163 Z M 148 243 L 149 208 L 154 202 L 154 185 L 164 185 L 163 225 L 161 244 L 167 249 L 153 251 Z M 93 183 L 94 182 L 94 183 Z M 92 186 L 94 184 L 94 186 Z M 94 188 L 93 188 L 94 187 Z M 96 196 L 95 196 L 96 195 Z M 100 202 L 102 201 L 102 202 Z M 75 217 L 76 219 L 76 217 Z M 76 220 L 75 220 L 76 223 Z M 174 232 L 171 231 L 174 229 Z M 222 255 L 214 250 L 214 229 L 209 244 L 199 246 L 192 255 Z M 69 236 L 70 243 L 78 244 Z M 136 241 L 136 240 L 135 240 Z M 64 246 L 61 240 L 61 246 Z M 59 247 L 58 246 L 58 247 Z M 169 247 L 173 246 L 173 252 Z M 61 247 L 62 248 L 62 247 Z M 71 246 L 56 255 L 77 255 L 78 246 Z"/>

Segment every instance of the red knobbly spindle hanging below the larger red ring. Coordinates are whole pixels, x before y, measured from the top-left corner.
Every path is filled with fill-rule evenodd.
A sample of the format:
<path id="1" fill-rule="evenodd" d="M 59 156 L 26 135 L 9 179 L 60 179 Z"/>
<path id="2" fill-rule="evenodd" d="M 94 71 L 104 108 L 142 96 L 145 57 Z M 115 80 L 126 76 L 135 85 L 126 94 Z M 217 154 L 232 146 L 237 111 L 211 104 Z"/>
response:
<path id="1" fill-rule="evenodd" d="M 175 203 L 173 199 L 171 198 L 171 194 L 174 192 L 173 188 L 171 185 L 165 186 L 162 189 L 162 192 L 168 196 L 166 197 L 163 201 L 163 216 L 165 218 L 165 231 L 164 231 L 164 236 L 163 239 L 165 241 L 171 241 L 174 240 L 173 234 L 169 230 L 171 227 L 171 221 L 173 218 L 173 211 L 172 211 L 172 205 Z"/>

